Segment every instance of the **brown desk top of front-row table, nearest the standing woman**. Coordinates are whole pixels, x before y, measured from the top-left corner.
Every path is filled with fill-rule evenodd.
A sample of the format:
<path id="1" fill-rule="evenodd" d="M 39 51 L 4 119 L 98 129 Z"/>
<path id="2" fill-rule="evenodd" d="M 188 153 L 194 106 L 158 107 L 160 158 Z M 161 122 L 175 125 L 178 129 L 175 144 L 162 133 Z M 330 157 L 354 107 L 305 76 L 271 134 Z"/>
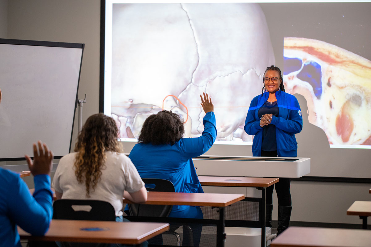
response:
<path id="1" fill-rule="evenodd" d="M 209 177 L 198 176 L 202 186 L 269 187 L 279 181 L 269 177 Z"/>

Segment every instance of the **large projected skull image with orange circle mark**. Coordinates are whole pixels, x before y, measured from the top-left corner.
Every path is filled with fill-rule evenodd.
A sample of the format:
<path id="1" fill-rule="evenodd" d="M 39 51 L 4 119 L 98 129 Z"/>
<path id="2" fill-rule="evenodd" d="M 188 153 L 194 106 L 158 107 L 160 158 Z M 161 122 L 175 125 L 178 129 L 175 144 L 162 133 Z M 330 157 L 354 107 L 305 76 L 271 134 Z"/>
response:
<path id="1" fill-rule="evenodd" d="M 199 94 L 206 92 L 217 143 L 251 144 L 246 114 L 266 67 L 275 64 L 259 4 L 112 4 L 111 54 L 108 114 L 121 140 L 135 141 L 144 120 L 162 109 L 183 117 L 184 137 L 199 136 Z"/>

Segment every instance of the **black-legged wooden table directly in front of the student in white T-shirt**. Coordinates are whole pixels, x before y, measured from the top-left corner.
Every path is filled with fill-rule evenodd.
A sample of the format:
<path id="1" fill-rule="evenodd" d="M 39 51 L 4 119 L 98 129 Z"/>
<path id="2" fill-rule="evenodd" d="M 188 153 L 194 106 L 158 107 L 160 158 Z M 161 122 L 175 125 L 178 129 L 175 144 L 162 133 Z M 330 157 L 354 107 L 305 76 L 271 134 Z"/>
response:
<path id="1" fill-rule="evenodd" d="M 225 226 L 225 207 L 245 198 L 243 194 L 218 194 L 218 193 L 181 193 L 181 192 L 148 192 L 148 198 L 145 203 L 150 205 L 189 205 L 189 206 L 209 206 L 219 208 L 219 220 L 209 219 L 188 219 L 188 218 L 160 218 L 161 221 L 167 222 L 184 222 L 184 223 L 207 223 L 215 224 L 216 246 L 224 247 L 226 233 Z M 132 203 L 124 198 L 124 203 Z M 158 221 L 158 217 L 126 217 L 131 221 Z"/>

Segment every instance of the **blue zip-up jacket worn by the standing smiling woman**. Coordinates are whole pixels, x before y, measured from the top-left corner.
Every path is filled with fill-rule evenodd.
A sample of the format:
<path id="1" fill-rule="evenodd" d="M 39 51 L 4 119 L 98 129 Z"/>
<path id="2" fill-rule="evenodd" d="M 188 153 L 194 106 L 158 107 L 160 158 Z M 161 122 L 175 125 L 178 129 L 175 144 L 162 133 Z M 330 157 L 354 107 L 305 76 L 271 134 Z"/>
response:
<path id="1" fill-rule="evenodd" d="M 263 127 L 260 127 L 260 117 L 257 112 L 268 100 L 269 92 L 256 96 L 250 103 L 244 130 L 253 138 L 253 156 L 261 156 Z M 270 124 L 276 126 L 277 154 L 279 157 L 296 157 L 298 144 L 295 134 L 303 128 L 303 118 L 298 100 L 295 96 L 281 90 L 276 91 L 278 117 L 273 116 Z"/>

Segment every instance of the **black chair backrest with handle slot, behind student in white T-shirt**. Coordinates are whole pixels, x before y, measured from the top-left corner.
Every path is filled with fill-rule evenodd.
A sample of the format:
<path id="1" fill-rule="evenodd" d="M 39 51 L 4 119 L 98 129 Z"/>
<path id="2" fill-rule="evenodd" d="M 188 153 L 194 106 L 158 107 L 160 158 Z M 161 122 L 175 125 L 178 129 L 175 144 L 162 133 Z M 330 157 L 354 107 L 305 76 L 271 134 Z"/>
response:
<path id="1" fill-rule="evenodd" d="M 54 201 L 53 210 L 53 218 L 60 220 L 116 220 L 114 207 L 106 201 L 61 199 Z"/>

